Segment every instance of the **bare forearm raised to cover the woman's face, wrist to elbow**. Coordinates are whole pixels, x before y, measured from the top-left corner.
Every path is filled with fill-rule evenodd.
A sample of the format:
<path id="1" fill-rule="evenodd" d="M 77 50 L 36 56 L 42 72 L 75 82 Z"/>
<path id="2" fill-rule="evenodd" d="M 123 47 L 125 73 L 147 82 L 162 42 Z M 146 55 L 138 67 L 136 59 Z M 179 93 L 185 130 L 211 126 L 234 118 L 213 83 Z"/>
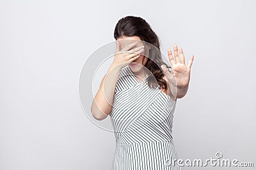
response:
<path id="1" fill-rule="evenodd" d="M 97 120 L 102 120 L 108 117 L 114 100 L 115 83 L 118 80 L 120 74 L 120 68 L 115 64 L 111 64 L 108 72 L 100 83 L 99 90 L 95 95 L 91 107 L 93 117 Z"/>

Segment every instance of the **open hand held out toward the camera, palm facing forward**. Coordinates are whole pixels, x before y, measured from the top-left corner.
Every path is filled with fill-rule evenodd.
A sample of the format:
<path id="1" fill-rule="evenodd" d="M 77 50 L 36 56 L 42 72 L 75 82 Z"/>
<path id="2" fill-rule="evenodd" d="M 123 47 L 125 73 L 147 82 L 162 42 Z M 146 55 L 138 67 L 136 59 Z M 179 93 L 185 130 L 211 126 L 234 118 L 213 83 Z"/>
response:
<path id="1" fill-rule="evenodd" d="M 161 67 L 164 71 L 166 78 L 168 78 L 168 81 L 170 81 L 172 85 L 174 85 L 175 87 L 187 87 L 190 80 L 190 71 L 194 55 L 191 56 L 188 66 L 186 66 L 182 48 L 179 48 L 178 52 L 178 46 L 174 45 L 173 52 L 175 60 L 173 59 L 172 50 L 170 48 L 168 49 L 168 56 L 172 67 L 172 71 L 168 71 L 168 69 L 164 66 Z"/>

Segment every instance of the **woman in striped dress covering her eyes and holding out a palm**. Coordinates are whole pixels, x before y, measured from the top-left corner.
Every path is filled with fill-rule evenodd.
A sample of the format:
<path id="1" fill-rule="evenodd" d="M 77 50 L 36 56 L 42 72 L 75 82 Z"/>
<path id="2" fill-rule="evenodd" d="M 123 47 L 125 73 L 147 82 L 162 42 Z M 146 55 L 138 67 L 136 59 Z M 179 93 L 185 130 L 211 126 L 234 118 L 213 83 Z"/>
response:
<path id="1" fill-rule="evenodd" d="M 120 19 L 115 27 L 116 52 L 92 103 L 97 120 L 110 117 L 116 137 L 113 169 L 180 169 L 172 139 L 177 99 L 186 95 L 191 56 L 168 49 L 172 71 L 160 52 L 159 38 L 140 17 Z M 180 57 L 179 57 L 180 53 Z M 173 59 L 174 57 L 174 59 Z"/>

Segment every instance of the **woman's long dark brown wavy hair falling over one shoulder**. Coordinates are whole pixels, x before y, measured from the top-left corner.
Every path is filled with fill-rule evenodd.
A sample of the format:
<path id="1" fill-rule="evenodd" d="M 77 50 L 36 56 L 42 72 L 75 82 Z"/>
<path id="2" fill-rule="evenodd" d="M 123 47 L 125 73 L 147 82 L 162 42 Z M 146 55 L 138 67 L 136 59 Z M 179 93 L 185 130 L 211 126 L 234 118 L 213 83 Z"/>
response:
<path id="1" fill-rule="evenodd" d="M 117 39 L 121 36 L 138 36 L 142 41 L 150 44 L 148 60 L 144 65 L 148 69 L 145 71 L 151 72 L 147 78 L 148 86 L 166 90 L 167 83 L 163 78 L 164 73 L 160 66 L 167 66 L 167 64 L 161 56 L 159 38 L 150 25 L 141 17 L 127 16 L 121 18 L 115 26 L 114 38 Z M 145 57 L 143 61 L 144 59 Z"/>

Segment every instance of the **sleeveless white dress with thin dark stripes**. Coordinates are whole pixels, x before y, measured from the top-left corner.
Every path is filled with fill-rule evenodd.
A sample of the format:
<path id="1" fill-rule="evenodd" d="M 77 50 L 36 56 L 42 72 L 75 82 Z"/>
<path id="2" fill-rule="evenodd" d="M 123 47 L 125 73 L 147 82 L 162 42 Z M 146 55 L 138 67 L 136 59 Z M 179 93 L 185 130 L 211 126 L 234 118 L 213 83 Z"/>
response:
<path id="1" fill-rule="evenodd" d="M 148 87 L 147 76 L 140 83 L 126 66 L 116 81 L 109 113 L 116 139 L 112 170 L 180 169 L 172 138 L 176 101 Z"/>

